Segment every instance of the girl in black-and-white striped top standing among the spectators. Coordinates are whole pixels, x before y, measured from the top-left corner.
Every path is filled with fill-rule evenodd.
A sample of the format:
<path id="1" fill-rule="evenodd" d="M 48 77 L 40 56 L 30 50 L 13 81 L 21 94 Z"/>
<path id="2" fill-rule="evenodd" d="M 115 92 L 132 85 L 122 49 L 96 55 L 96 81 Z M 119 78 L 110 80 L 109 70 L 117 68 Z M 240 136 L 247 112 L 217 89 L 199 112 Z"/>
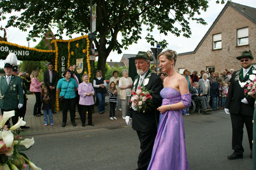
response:
<path id="1" fill-rule="evenodd" d="M 117 104 L 117 89 L 116 89 L 116 85 L 115 82 L 112 81 L 109 85 L 109 89 L 108 89 L 108 101 L 109 101 L 109 106 L 110 106 L 110 111 L 109 111 L 109 117 L 110 120 L 117 120 L 116 118 L 116 104 Z"/>

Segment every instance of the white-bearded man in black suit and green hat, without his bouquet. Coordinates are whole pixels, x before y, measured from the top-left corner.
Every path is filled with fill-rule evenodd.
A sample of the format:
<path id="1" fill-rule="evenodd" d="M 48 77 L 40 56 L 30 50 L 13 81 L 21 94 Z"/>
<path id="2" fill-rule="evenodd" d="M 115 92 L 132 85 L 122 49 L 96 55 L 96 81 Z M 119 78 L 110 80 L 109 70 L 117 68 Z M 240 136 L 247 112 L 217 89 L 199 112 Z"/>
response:
<path id="1" fill-rule="evenodd" d="M 132 89 L 136 91 L 138 86 L 145 86 L 147 90 L 152 90 L 152 97 L 149 99 L 154 103 L 154 106 L 152 106 L 151 111 L 146 110 L 145 113 L 138 113 L 129 104 L 126 122 L 128 125 L 130 124 L 129 118 L 132 115 L 132 128 L 137 132 L 141 149 L 137 170 L 147 170 L 157 135 L 159 122 L 159 111 L 157 108 L 162 102 L 160 91 L 163 86 L 161 78 L 149 69 L 150 61 L 153 60 L 149 52 L 139 51 L 134 59 L 138 75 L 134 78 Z"/>

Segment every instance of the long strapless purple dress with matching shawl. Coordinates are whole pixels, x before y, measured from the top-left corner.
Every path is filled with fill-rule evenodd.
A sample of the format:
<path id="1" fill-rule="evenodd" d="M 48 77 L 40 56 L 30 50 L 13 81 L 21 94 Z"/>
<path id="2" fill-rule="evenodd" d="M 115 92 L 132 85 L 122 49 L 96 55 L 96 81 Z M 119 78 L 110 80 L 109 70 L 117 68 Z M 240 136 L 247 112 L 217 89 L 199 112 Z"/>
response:
<path id="1" fill-rule="evenodd" d="M 164 87 L 160 92 L 162 105 L 180 101 L 186 107 L 191 104 L 191 94 L 181 96 L 175 89 Z M 185 133 L 181 110 L 160 114 L 158 134 L 155 139 L 148 170 L 189 170 L 185 146 Z"/>

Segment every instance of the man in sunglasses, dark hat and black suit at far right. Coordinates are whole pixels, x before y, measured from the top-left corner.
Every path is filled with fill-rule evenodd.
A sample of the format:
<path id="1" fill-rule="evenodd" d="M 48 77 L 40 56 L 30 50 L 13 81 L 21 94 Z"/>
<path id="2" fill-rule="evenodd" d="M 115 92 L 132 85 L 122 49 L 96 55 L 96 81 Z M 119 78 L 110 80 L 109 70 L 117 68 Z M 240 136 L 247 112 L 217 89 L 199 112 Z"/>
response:
<path id="1" fill-rule="evenodd" d="M 253 140 L 252 121 L 255 99 L 251 96 L 245 96 L 244 89 L 247 89 L 246 85 L 256 77 L 256 69 L 252 66 L 254 57 L 251 51 L 243 51 L 242 55 L 236 58 L 240 60 L 242 68 L 232 74 L 225 105 L 225 112 L 226 114 L 230 113 L 232 123 L 232 149 L 234 152 L 227 156 L 227 159 L 230 160 L 243 158 L 244 148 L 242 140 L 244 124 L 246 125 L 251 150 Z M 252 153 L 250 157 L 252 157 Z"/>

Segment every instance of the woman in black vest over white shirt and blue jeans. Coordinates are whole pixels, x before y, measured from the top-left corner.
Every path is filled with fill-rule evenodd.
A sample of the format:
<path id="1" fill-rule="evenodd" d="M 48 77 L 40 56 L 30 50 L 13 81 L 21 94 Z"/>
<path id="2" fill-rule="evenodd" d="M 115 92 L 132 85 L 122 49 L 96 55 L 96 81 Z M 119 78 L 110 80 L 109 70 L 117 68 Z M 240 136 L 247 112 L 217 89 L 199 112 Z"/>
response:
<path id="1" fill-rule="evenodd" d="M 94 87 L 96 91 L 96 97 L 98 99 L 98 113 L 103 114 L 105 112 L 105 97 L 107 93 L 106 80 L 101 76 L 101 71 L 96 71 L 96 77 L 94 77 Z"/>

